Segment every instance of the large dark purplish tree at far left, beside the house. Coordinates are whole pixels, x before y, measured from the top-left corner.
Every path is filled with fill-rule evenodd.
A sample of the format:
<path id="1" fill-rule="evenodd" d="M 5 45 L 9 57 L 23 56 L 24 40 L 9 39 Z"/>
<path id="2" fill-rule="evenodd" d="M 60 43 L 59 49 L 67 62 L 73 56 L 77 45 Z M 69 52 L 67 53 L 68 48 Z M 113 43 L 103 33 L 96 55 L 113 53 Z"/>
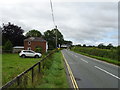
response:
<path id="1" fill-rule="evenodd" d="M 6 43 L 6 41 L 10 40 L 13 46 L 23 45 L 24 30 L 21 27 L 11 24 L 3 24 L 2 27 L 2 45 Z"/>

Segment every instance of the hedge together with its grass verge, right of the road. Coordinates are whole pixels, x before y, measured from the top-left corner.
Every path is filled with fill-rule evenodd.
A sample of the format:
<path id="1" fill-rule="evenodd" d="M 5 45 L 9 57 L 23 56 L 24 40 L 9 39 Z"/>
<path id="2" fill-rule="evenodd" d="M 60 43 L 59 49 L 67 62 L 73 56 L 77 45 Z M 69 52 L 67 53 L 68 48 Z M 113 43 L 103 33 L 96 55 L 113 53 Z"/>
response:
<path id="1" fill-rule="evenodd" d="M 76 47 L 73 47 L 71 50 L 86 56 L 99 59 L 99 60 L 120 65 L 120 61 L 118 60 L 119 54 L 118 54 L 117 48 L 116 49 L 99 49 L 96 47 L 76 46 Z"/>

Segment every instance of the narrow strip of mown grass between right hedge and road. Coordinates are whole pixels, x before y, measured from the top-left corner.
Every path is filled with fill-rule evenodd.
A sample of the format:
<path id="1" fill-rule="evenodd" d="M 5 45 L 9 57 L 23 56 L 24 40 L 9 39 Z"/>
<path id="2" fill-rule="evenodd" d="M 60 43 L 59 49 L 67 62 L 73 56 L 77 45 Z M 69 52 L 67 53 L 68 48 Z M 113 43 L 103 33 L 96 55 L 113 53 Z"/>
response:
<path id="1" fill-rule="evenodd" d="M 92 57 L 92 58 L 96 58 L 98 60 L 102 60 L 102 61 L 105 61 L 105 62 L 112 63 L 112 64 L 120 66 L 120 61 L 117 61 L 117 60 L 112 60 L 112 59 L 109 59 L 109 58 L 89 55 L 89 54 L 86 54 L 86 53 L 83 53 L 83 52 L 78 52 L 78 51 L 75 51 L 75 50 L 72 50 L 72 51 L 74 51 L 76 53 L 79 53 L 79 54 L 82 54 L 82 55 L 85 55 L 85 56 L 89 56 L 89 57 Z"/>

